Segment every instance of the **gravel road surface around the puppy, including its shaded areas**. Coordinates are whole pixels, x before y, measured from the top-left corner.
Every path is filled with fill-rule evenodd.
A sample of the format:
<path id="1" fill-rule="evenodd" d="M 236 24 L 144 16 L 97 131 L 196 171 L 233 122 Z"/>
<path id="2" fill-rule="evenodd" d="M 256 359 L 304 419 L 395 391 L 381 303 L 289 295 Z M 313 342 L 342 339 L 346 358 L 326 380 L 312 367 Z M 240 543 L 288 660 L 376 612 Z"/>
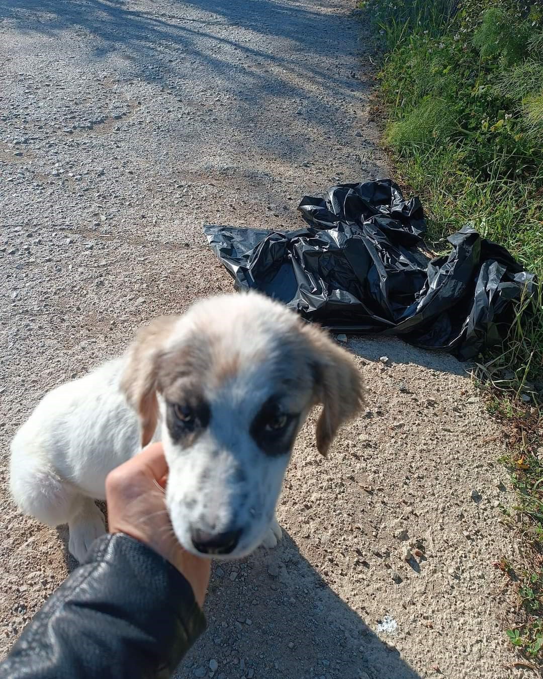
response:
<path id="1" fill-rule="evenodd" d="M 388 174 L 353 7 L 0 0 L 3 653 L 74 565 L 65 532 L 7 493 L 7 445 L 39 398 L 153 316 L 231 290 L 204 223 L 299 225 L 304 194 Z M 347 345 L 368 411 L 329 460 L 303 430 L 282 544 L 214 569 L 208 631 L 176 677 L 531 676 L 511 665 L 492 566 L 518 549 L 503 444 L 465 366 Z"/>

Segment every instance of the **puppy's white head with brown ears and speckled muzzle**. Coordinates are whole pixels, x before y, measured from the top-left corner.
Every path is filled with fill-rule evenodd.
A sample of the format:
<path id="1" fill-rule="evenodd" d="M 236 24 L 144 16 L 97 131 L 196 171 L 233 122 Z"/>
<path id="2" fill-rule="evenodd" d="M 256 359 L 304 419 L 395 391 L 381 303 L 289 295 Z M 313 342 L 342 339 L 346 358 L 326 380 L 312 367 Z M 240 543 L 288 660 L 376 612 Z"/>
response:
<path id="1" fill-rule="evenodd" d="M 257 293 L 211 297 L 141 329 L 123 388 L 147 445 L 162 420 L 166 504 L 181 545 L 242 557 L 264 537 L 295 437 L 321 403 L 326 455 L 362 404 L 349 354 Z"/>

